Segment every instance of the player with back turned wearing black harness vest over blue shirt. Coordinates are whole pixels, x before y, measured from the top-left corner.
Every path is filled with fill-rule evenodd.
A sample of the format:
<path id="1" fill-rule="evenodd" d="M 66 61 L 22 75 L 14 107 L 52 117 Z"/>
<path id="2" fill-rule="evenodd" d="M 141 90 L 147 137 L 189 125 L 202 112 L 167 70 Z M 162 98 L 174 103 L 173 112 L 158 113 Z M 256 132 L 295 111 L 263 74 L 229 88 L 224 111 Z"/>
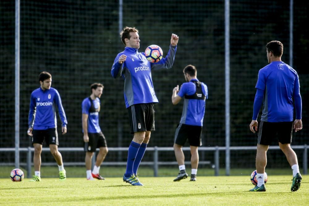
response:
<path id="1" fill-rule="evenodd" d="M 191 152 L 191 178 L 190 181 L 196 181 L 198 166 L 198 147 L 202 145 L 201 133 L 203 119 L 205 114 L 205 102 L 208 99 L 207 86 L 198 81 L 197 70 L 195 66 L 188 65 L 184 68 L 184 78 L 187 81 L 180 87 L 177 85 L 173 89 L 172 103 L 178 104 L 184 97 L 184 108 L 180 123 L 175 132 L 174 151 L 179 166 L 179 174 L 174 179 L 180 181 L 188 177 L 184 165 L 184 152 L 182 147 L 189 141 Z"/>

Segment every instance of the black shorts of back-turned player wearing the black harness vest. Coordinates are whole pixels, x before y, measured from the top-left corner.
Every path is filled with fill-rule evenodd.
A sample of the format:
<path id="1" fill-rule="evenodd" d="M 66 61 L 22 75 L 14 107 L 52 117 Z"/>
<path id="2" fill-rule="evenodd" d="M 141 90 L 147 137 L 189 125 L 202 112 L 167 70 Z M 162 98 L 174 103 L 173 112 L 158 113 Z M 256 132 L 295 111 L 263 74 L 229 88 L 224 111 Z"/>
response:
<path id="1" fill-rule="evenodd" d="M 180 123 L 176 128 L 174 143 L 184 146 L 184 143 L 186 143 L 188 139 L 190 146 L 202 146 L 201 134 L 202 126 Z"/>

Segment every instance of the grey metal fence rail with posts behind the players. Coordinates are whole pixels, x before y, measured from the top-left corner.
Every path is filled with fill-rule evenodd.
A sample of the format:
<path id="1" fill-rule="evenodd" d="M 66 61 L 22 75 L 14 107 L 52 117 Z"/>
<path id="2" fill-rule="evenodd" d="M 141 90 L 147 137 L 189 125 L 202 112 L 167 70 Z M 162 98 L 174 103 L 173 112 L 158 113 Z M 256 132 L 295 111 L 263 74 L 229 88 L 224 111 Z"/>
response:
<path id="1" fill-rule="evenodd" d="M 293 145 L 291 146 L 292 149 L 303 149 L 303 174 L 307 174 L 307 150 L 308 150 L 309 145 Z M 183 147 L 182 148 L 184 151 L 190 151 L 189 147 Z M 269 150 L 275 150 L 275 149 L 280 149 L 279 146 L 269 146 Z M 80 147 L 59 147 L 59 151 L 66 151 L 66 152 L 83 152 L 84 149 Z M 210 161 L 200 161 L 200 165 L 211 165 L 214 168 L 214 175 L 218 176 L 219 175 L 219 151 L 225 151 L 226 147 L 199 147 L 199 151 L 213 151 L 214 152 L 214 164 L 211 164 Z M 230 147 L 230 150 L 256 150 L 256 146 L 232 146 Z M 0 148 L 0 152 L 14 152 L 15 148 Z M 28 178 L 31 177 L 31 166 L 33 165 L 32 163 L 32 152 L 34 149 L 32 147 L 28 148 L 19 148 L 19 152 L 28 152 L 27 153 L 27 162 L 26 163 L 20 163 L 22 166 L 27 166 L 27 174 Z M 96 151 L 99 151 L 97 149 Z M 128 151 L 127 147 L 109 147 L 108 151 Z M 154 153 L 154 160 L 153 162 L 141 162 L 141 165 L 153 165 L 154 169 L 154 176 L 158 176 L 158 170 L 159 170 L 159 165 L 172 165 L 175 164 L 177 165 L 177 162 L 162 162 L 159 161 L 159 152 L 167 152 L 167 151 L 174 151 L 173 147 L 147 147 L 146 151 L 150 151 Z M 49 152 L 49 148 L 42 148 L 42 152 Z M 95 163 L 95 158 L 92 158 L 92 165 Z M 54 165 L 55 163 L 42 163 L 42 165 Z M 82 166 L 85 165 L 84 162 L 65 162 L 65 165 L 70 165 L 70 166 Z M 104 162 L 104 165 L 109 165 L 109 166 L 120 166 L 120 165 L 126 165 L 126 162 Z M 185 164 L 190 164 L 189 161 L 186 161 Z M 0 163 L 0 165 L 14 165 L 12 162 L 7 162 L 7 163 Z"/>

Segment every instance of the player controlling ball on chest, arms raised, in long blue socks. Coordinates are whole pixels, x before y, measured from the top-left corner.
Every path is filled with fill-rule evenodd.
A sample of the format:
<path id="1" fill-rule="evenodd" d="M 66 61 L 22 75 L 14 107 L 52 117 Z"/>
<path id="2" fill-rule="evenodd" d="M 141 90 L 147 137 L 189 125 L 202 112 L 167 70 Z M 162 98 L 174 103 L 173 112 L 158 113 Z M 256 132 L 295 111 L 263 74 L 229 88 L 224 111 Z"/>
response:
<path id="1" fill-rule="evenodd" d="M 154 103 L 158 103 L 151 71 L 172 67 L 179 37 L 172 34 L 166 57 L 157 63 L 150 63 L 145 53 L 138 52 L 140 39 L 136 28 L 125 27 L 120 36 L 125 50 L 116 56 L 111 74 L 113 78 L 122 77 L 125 80 L 125 105 L 129 112 L 131 133 L 134 134 L 128 150 L 123 181 L 134 186 L 142 186 L 137 170 L 149 142 L 150 132 L 155 130 Z"/>

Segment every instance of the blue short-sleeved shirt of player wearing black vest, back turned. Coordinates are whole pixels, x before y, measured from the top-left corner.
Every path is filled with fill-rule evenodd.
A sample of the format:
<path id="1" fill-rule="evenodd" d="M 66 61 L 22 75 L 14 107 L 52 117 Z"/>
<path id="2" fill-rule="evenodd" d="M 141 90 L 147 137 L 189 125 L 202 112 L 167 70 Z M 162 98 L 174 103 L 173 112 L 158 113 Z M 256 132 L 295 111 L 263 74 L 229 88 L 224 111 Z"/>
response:
<path id="1" fill-rule="evenodd" d="M 180 119 L 181 124 L 189 124 L 194 126 L 203 126 L 203 119 L 205 114 L 205 102 L 208 99 L 207 86 L 201 82 L 202 95 L 204 99 L 187 99 L 186 95 L 193 95 L 197 92 L 196 84 L 197 79 L 191 79 L 190 82 L 183 83 L 178 92 L 178 96 L 181 98 L 185 96 L 184 108 Z M 199 94 L 197 94 L 199 96 Z"/>

